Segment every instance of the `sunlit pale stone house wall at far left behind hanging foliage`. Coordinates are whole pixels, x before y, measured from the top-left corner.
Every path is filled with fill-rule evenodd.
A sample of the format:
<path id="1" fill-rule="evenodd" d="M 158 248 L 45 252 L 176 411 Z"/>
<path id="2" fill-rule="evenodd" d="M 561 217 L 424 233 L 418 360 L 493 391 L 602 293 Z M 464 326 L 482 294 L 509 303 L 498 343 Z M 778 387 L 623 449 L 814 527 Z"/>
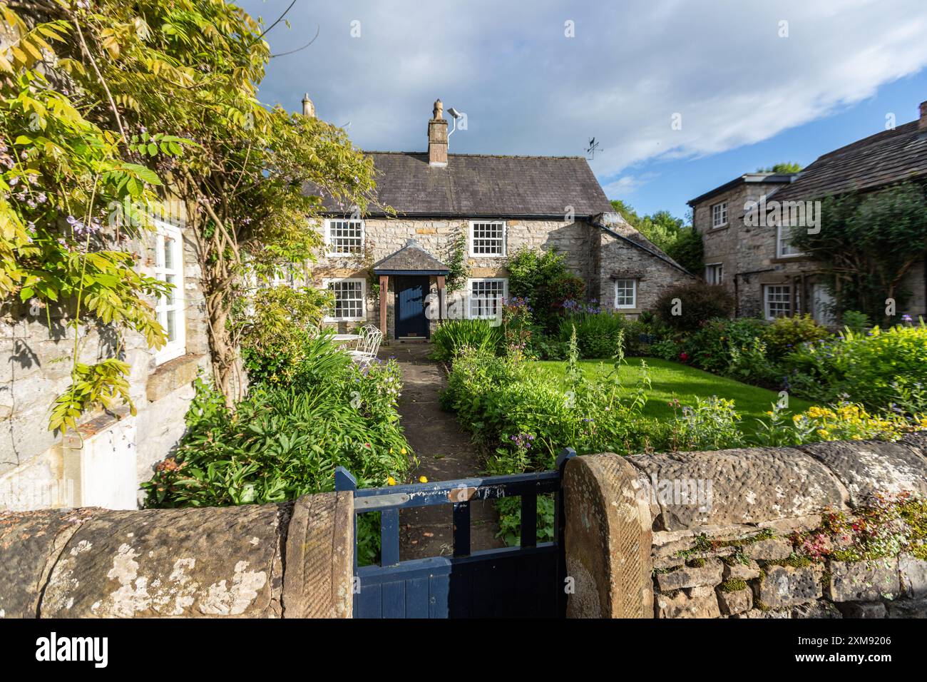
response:
<path id="1" fill-rule="evenodd" d="M 171 212 L 166 212 L 171 213 Z M 173 212 L 176 214 L 176 212 Z M 209 370 L 210 354 L 199 266 L 184 221 L 165 217 L 156 231 L 125 247 L 139 270 L 174 283 L 171 299 L 152 301 L 169 342 L 159 351 L 126 333 L 120 356 L 131 367 L 128 409 L 97 410 L 64 437 L 48 431 L 50 407 L 70 385 L 73 330 L 61 309 L 0 309 L 0 509 L 97 506 L 136 508 L 139 483 L 151 477 L 184 433 L 193 380 Z M 82 327 L 81 361 L 113 356 L 105 326 Z"/>

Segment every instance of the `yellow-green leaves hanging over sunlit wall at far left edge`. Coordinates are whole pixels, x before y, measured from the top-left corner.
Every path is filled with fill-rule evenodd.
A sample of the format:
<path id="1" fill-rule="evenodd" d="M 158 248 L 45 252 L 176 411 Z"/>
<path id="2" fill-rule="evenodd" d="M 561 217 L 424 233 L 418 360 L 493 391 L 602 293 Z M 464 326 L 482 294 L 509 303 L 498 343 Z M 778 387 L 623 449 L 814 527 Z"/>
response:
<path id="1" fill-rule="evenodd" d="M 21 6 L 0 2 L 0 296 L 13 314 L 21 308 L 44 314 L 49 328 L 54 306 L 70 328 L 71 383 L 49 421 L 50 429 L 67 431 L 86 410 L 118 398 L 134 412 L 129 367 L 120 359 L 126 330 L 154 347 L 165 341 L 146 299 L 170 285 L 139 274 L 133 254 L 120 248 L 145 221 L 123 214 L 121 233 L 109 224 L 114 206 L 144 213 L 158 202 L 159 176 L 141 161 L 176 156 L 184 140 L 159 135 L 142 150 L 139 140 L 91 121 L 86 111 L 97 96 L 70 79 L 83 64 L 57 58 L 74 26 L 65 18 L 43 21 L 33 11 L 24 19 L 14 5 Z M 85 364 L 81 328 L 93 322 L 116 332 L 117 347 L 113 357 Z"/>

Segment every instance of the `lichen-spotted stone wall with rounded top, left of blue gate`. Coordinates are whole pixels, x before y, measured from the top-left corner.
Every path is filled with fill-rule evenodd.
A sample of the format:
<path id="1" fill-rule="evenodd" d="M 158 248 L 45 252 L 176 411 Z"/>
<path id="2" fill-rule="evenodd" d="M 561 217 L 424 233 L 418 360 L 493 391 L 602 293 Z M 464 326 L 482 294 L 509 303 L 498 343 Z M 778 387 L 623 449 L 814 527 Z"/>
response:
<path id="1" fill-rule="evenodd" d="M 349 618 L 353 495 L 0 513 L 0 618 Z"/>

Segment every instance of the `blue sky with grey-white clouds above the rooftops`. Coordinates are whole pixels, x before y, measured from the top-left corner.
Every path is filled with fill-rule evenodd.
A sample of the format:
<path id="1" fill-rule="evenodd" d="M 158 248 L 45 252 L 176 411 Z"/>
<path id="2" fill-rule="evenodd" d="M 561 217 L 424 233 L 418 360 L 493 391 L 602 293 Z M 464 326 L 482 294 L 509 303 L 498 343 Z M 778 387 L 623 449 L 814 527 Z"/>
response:
<path id="1" fill-rule="evenodd" d="M 276 19 L 290 0 L 241 0 Z M 777 161 L 916 118 L 923 0 L 298 0 L 267 36 L 267 104 L 309 92 L 364 149 L 423 150 L 432 102 L 467 114 L 451 152 L 584 155 L 611 199 L 667 209 Z M 681 122 L 674 127 L 673 122 Z"/>

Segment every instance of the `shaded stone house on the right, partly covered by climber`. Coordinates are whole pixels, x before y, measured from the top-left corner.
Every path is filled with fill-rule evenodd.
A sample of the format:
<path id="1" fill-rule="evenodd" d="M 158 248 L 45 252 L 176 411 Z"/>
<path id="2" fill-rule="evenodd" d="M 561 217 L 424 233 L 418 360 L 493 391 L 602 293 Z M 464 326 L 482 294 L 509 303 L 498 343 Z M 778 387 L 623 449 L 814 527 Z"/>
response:
<path id="1" fill-rule="evenodd" d="M 715 187 L 689 201 L 692 223 L 705 242 L 705 280 L 734 294 L 737 315 L 769 319 L 807 313 L 822 324 L 835 324 L 833 299 L 820 264 L 790 243 L 790 224 L 797 225 L 794 217 L 805 212 L 808 223 L 814 201 L 882 189 L 924 174 L 927 102 L 921 104 L 918 120 L 835 149 L 801 173 L 749 173 Z M 791 220 L 782 219 L 787 214 Z M 921 259 L 902 282 L 909 297 L 898 315 L 925 315 L 925 275 Z"/>

